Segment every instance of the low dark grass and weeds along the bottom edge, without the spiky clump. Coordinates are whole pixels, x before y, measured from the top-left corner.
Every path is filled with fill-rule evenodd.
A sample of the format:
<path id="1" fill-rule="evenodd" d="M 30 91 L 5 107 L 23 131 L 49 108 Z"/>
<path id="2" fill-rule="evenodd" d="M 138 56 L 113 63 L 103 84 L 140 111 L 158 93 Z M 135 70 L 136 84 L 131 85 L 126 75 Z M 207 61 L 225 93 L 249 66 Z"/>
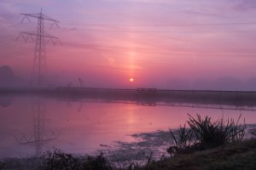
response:
<path id="1" fill-rule="evenodd" d="M 51 154 L 44 161 L 44 166 L 48 166 L 44 167 L 44 170 L 254 170 L 256 167 L 256 139 L 224 144 L 189 154 L 177 153 L 160 161 L 151 161 L 150 156 L 143 167 L 137 163 L 131 163 L 127 167 L 115 167 L 102 155 L 74 158 L 63 152 L 55 153 L 58 156 Z"/>

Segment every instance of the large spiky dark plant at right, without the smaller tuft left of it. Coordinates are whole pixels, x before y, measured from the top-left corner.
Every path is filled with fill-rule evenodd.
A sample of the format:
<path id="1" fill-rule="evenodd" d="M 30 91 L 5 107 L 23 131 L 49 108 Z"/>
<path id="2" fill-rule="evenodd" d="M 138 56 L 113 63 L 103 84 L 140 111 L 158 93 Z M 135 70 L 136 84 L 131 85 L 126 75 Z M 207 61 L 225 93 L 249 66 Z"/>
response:
<path id="1" fill-rule="evenodd" d="M 196 118 L 189 115 L 188 124 L 200 148 L 207 149 L 241 141 L 245 134 L 245 123 L 239 124 L 240 118 L 241 115 L 237 122 L 234 119 L 224 122 L 223 117 L 220 121 L 212 122 L 209 116 L 203 119 L 200 115 Z"/>

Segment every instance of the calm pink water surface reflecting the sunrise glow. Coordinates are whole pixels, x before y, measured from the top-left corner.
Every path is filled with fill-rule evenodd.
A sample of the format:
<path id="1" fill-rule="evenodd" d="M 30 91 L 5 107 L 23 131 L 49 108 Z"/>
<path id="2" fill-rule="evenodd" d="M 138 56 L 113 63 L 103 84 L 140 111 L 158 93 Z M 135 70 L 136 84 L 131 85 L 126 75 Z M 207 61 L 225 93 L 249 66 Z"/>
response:
<path id="1" fill-rule="evenodd" d="M 2 97 L 0 158 L 40 155 L 53 148 L 73 154 L 93 154 L 96 150 L 113 148 L 118 141 L 140 140 L 131 136 L 135 133 L 179 127 L 188 120 L 188 113 L 211 116 L 213 120 L 222 116 L 236 119 L 242 114 L 246 123 L 256 124 L 253 108 L 242 111 L 236 106 L 162 104 Z"/>

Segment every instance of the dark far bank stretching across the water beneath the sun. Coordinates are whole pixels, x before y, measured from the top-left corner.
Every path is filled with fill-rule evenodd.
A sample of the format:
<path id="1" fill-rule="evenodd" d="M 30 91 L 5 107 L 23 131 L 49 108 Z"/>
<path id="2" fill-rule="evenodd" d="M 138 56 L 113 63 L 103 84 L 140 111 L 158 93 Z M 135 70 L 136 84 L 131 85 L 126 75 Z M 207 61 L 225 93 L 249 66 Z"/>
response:
<path id="1" fill-rule="evenodd" d="M 2 96 L 36 95 L 55 99 L 101 99 L 108 102 L 134 102 L 137 105 L 256 105 L 255 91 L 169 90 L 156 88 L 0 88 Z"/>

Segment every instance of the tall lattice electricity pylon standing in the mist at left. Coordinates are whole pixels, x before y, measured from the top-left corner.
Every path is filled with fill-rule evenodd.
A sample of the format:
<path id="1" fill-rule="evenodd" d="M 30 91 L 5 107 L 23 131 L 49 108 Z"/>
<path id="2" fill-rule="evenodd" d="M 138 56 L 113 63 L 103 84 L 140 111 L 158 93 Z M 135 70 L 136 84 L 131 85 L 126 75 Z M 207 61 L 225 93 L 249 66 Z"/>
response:
<path id="1" fill-rule="evenodd" d="M 29 39 L 35 41 L 35 52 L 34 52 L 34 59 L 33 59 L 33 67 L 32 67 L 32 76 L 35 82 L 37 83 L 38 88 L 41 87 L 44 70 L 46 65 L 46 53 L 45 53 L 45 39 L 47 42 L 52 42 L 53 45 L 60 42 L 58 37 L 51 36 L 44 31 L 44 20 L 48 20 L 52 22 L 52 26 L 58 26 L 59 21 L 50 18 L 49 16 L 45 15 L 41 12 L 39 14 L 21 14 L 24 15 L 21 23 L 26 19 L 31 22 L 30 18 L 38 19 L 38 26 L 36 32 L 28 32 L 28 31 L 21 31 L 19 37 L 22 37 L 25 42 Z M 18 38 L 19 38 L 18 37 Z M 34 39 L 35 37 L 35 39 Z M 61 43 L 61 42 L 60 42 Z"/>

